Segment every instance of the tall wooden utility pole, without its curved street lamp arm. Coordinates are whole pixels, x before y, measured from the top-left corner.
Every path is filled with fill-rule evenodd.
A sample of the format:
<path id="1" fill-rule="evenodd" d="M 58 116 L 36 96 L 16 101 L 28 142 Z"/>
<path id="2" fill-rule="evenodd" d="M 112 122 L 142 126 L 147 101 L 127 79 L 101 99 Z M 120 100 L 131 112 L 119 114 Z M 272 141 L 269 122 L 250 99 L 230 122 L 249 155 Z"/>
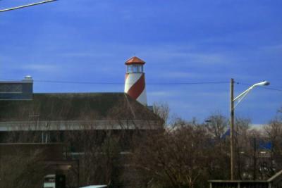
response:
<path id="1" fill-rule="evenodd" d="M 230 168 L 231 180 L 234 180 L 234 79 L 230 83 Z"/>

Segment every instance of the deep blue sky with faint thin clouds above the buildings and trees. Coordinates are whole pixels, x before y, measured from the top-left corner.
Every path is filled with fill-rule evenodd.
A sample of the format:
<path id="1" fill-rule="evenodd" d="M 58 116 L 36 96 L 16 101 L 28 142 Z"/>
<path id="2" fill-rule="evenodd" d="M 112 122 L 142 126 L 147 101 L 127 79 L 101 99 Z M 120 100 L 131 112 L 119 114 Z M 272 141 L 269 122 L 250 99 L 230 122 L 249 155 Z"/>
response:
<path id="1" fill-rule="evenodd" d="M 0 9 L 33 3 L 2 0 Z M 202 121 L 228 115 L 229 84 L 282 89 L 282 1 L 60 0 L 0 13 L 0 78 L 124 82 L 124 62 L 145 60 L 149 104 Z M 150 84 L 151 83 L 151 84 Z M 35 82 L 35 92 L 123 92 L 123 84 Z M 235 94 L 247 89 L 235 84 Z M 235 114 L 267 123 L 282 92 L 256 88 Z"/>

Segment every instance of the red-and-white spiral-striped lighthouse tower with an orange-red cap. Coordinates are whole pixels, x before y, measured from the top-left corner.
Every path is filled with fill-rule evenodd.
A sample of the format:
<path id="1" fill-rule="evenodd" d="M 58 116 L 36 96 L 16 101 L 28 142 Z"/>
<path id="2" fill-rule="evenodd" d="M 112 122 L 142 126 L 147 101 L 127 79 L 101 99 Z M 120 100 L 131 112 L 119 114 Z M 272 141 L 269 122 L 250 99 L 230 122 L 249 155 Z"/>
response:
<path id="1" fill-rule="evenodd" d="M 124 92 L 140 102 L 140 104 L 147 106 L 144 64 L 145 61 L 135 56 L 125 62 L 126 74 Z"/>

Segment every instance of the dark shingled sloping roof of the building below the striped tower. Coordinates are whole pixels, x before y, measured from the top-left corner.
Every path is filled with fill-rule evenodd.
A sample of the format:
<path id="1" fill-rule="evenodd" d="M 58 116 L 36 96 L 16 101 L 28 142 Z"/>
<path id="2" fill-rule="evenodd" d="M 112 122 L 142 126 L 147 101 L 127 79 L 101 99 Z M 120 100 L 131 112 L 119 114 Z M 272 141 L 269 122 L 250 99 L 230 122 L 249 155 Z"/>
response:
<path id="1" fill-rule="evenodd" d="M 33 94 L 32 100 L 1 101 L 0 121 L 157 120 L 159 116 L 124 93 Z"/>

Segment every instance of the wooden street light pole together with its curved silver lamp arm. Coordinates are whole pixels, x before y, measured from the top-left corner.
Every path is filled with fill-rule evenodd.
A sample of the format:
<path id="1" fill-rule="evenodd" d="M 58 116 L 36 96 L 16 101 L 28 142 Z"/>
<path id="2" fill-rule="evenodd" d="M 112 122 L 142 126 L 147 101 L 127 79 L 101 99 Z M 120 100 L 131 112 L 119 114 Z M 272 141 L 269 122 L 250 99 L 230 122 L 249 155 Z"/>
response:
<path id="1" fill-rule="evenodd" d="M 239 94 L 234 98 L 234 79 L 231 78 L 230 84 L 230 149 L 231 149 L 231 180 L 234 180 L 234 109 L 243 100 L 247 94 L 257 86 L 266 86 L 270 83 L 267 81 L 259 82 L 253 84 L 251 87 L 245 90 L 245 92 Z M 234 102 L 237 101 L 237 104 L 234 106 Z"/>

